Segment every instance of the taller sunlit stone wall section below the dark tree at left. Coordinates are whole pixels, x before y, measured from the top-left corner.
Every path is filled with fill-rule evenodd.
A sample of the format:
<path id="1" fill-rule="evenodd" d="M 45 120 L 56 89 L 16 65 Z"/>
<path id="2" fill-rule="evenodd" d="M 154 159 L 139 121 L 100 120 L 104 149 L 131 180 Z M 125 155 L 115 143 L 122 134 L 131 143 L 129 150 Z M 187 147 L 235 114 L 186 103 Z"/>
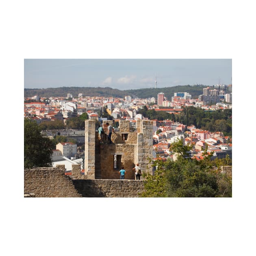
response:
<path id="1" fill-rule="evenodd" d="M 25 169 L 24 197 L 82 196 L 75 189 L 72 180 L 65 176 L 65 165 L 61 165 L 55 168 Z"/>

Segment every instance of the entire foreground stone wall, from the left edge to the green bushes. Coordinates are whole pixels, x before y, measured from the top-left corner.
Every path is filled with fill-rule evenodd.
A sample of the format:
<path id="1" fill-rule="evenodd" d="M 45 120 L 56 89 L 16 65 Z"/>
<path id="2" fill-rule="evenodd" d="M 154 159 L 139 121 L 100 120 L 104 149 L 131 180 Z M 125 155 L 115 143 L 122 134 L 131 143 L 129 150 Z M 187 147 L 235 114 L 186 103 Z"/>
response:
<path id="1" fill-rule="evenodd" d="M 24 197 L 139 197 L 144 189 L 142 180 L 83 179 L 78 167 L 72 166 L 71 177 L 64 165 L 25 169 Z"/>

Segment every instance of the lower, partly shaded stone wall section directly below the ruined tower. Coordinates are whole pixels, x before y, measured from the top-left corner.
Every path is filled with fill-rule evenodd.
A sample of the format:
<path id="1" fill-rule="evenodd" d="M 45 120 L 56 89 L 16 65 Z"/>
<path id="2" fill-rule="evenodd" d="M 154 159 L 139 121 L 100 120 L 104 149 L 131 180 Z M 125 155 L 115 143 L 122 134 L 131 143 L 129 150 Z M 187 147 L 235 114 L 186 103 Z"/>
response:
<path id="1" fill-rule="evenodd" d="M 139 197 L 142 180 L 73 180 L 83 197 Z"/>

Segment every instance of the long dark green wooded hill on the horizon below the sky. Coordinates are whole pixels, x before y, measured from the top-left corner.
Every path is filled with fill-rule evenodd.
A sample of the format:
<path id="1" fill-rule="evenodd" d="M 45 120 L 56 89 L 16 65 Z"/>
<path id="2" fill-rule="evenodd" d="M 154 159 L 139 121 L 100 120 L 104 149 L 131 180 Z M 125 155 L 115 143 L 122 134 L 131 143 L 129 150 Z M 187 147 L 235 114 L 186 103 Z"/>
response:
<path id="1" fill-rule="evenodd" d="M 147 88 L 147 89 L 135 89 L 121 91 L 118 89 L 112 89 L 110 87 L 59 87 L 59 88 L 46 88 L 46 89 L 24 89 L 24 97 L 29 98 L 35 95 L 39 97 L 67 97 L 67 93 L 71 93 L 73 97 L 77 97 L 78 93 L 82 93 L 83 96 L 102 96 L 102 97 L 117 97 L 124 98 L 125 95 L 131 95 L 132 98 L 156 98 L 158 93 L 165 93 L 167 100 L 171 100 L 171 97 L 175 92 L 188 92 L 192 95 L 192 98 L 198 98 L 198 95 L 203 93 L 203 88 L 206 86 L 191 86 L 191 85 L 178 85 L 174 87 L 164 88 Z"/>

